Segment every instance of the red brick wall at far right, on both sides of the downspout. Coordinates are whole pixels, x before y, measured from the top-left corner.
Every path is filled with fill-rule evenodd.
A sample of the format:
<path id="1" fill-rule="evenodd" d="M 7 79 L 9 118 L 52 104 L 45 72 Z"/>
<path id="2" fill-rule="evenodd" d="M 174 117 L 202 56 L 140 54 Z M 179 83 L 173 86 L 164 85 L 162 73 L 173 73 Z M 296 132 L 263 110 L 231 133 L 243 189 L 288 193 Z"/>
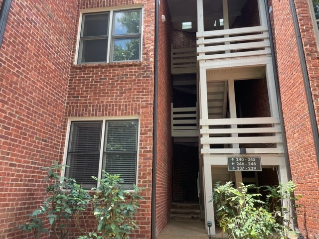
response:
<path id="1" fill-rule="evenodd" d="M 311 77 L 312 90 L 315 92 L 318 48 L 314 43 L 308 1 L 295 2 L 302 29 L 307 69 Z M 319 236 L 319 170 L 292 14 L 288 0 L 269 0 L 269 3 L 273 7 L 271 18 L 292 178 L 298 184 L 296 194 L 303 196 L 299 203 L 305 205 L 306 210 L 298 214 L 298 227 L 304 236 L 315 239 L 315 236 Z M 317 97 L 316 94 L 313 94 L 313 97 Z M 315 108 L 318 110 L 318 99 L 315 102 Z"/>

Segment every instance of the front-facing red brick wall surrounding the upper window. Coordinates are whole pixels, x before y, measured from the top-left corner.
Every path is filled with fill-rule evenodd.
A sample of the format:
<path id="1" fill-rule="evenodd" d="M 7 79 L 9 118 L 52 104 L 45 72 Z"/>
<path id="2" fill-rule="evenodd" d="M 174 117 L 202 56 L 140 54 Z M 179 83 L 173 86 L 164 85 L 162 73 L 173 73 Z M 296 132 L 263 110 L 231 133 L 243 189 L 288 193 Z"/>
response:
<path id="1" fill-rule="evenodd" d="M 140 230 L 132 238 L 151 237 L 153 101 L 154 101 L 154 22 L 153 0 L 81 0 L 80 9 L 144 4 L 142 61 L 71 65 L 67 117 L 140 118 L 138 186 L 145 188 L 137 222 Z M 134 5 L 132 5 L 134 7 Z M 79 19 L 78 12 L 77 21 Z M 77 22 L 78 24 L 78 22 Z M 77 31 L 74 32 L 73 59 Z"/>

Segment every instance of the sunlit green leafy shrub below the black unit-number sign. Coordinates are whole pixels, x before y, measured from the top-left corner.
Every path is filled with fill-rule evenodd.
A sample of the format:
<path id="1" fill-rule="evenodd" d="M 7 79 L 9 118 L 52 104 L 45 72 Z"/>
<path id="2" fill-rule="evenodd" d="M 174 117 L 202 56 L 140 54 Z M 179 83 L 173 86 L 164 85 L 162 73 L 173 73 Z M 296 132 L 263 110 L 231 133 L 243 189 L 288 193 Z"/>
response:
<path id="1" fill-rule="evenodd" d="M 266 202 L 255 185 L 244 185 L 240 191 L 232 186 L 216 184 L 212 201 L 217 205 L 216 219 L 229 239 L 287 239 L 290 231 L 291 204 L 296 185 L 289 182 L 278 187 L 267 186 Z M 280 202 L 283 202 L 281 204 Z M 270 206 L 271 205 L 271 206 Z M 272 211 L 270 211 L 272 208 Z"/>

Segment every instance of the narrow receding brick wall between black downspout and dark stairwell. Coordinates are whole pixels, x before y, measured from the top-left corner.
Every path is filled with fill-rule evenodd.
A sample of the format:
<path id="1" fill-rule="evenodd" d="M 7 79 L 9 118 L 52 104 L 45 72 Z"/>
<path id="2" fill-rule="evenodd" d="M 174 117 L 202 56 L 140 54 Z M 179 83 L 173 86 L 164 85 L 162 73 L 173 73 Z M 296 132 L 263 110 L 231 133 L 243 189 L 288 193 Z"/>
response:
<path id="1" fill-rule="evenodd" d="M 170 216 L 172 202 L 172 138 L 170 130 L 170 44 L 171 20 L 166 0 L 160 1 L 159 20 L 159 78 L 158 78 L 158 134 L 157 134 L 157 190 L 156 234 L 165 227 Z"/>

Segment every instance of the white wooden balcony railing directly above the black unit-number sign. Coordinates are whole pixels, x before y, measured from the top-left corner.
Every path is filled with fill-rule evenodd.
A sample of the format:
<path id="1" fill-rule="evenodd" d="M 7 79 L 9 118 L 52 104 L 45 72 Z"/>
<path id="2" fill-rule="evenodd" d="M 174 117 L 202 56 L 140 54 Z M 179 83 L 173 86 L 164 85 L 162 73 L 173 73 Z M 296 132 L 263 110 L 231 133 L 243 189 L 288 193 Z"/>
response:
<path id="1" fill-rule="evenodd" d="M 240 153 L 240 144 L 245 145 L 247 154 L 283 153 L 279 118 L 200 119 L 199 122 L 201 153 L 236 154 Z M 255 147 L 258 144 L 264 147 Z M 224 148 L 225 145 L 229 147 Z"/>

